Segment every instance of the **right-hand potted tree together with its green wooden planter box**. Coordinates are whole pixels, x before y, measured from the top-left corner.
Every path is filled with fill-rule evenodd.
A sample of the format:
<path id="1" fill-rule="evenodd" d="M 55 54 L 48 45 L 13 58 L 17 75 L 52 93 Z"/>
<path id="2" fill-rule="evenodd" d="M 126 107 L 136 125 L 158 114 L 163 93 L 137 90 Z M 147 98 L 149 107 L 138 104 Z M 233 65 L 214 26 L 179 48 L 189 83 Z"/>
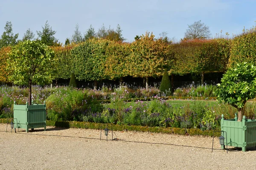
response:
<path id="1" fill-rule="evenodd" d="M 234 119 L 225 120 L 221 115 L 221 130 L 227 132 L 225 145 L 242 147 L 243 151 L 256 146 L 256 121 L 242 116 L 245 103 L 256 95 L 256 66 L 244 62 L 229 68 L 215 93 L 219 102 L 238 109 L 238 117 Z"/>

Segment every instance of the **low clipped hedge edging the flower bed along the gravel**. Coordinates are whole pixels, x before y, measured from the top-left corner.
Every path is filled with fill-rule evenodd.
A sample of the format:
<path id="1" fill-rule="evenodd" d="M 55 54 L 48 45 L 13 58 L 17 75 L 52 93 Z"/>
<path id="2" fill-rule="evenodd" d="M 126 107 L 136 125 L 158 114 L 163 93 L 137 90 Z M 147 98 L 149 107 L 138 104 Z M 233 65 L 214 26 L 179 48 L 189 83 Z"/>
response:
<path id="1" fill-rule="evenodd" d="M 10 119 L 0 119 L 0 123 L 10 123 Z M 55 126 L 55 127 L 67 127 L 67 128 L 82 128 L 82 129 L 97 129 L 99 130 L 101 127 L 101 123 L 93 123 L 93 122 L 74 122 L 74 121 L 46 121 L 47 126 Z M 213 130 L 200 130 L 200 129 L 183 129 L 176 127 L 147 127 L 147 126 L 135 126 L 135 125 L 115 125 L 113 124 L 113 130 L 117 131 L 138 131 L 138 132 L 152 132 L 152 133 L 173 133 L 177 135 L 202 135 L 202 136 L 213 136 Z M 215 136 L 220 136 L 219 132 L 215 133 Z"/>

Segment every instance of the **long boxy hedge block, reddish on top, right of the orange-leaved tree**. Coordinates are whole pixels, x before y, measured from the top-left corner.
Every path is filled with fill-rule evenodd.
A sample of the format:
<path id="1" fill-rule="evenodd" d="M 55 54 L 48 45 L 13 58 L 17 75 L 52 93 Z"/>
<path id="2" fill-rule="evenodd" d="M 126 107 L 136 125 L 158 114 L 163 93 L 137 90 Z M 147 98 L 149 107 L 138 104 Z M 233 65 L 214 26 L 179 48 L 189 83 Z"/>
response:
<path id="1" fill-rule="evenodd" d="M 172 44 L 175 63 L 171 65 L 173 74 L 201 74 L 223 72 L 229 59 L 229 40 L 189 40 Z"/>

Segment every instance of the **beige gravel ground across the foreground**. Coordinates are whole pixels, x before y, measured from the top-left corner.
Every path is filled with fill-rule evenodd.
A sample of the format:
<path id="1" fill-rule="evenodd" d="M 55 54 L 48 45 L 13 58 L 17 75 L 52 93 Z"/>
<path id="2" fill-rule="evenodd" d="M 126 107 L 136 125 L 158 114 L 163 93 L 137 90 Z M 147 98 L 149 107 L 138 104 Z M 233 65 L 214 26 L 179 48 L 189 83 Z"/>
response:
<path id="1" fill-rule="evenodd" d="M 0 124 L 0 170 L 213 170 L 256 169 L 254 147 L 220 149 L 218 138 L 47 127 L 11 133 Z M 108 136 L 112 139 L 112 136 Z"/>

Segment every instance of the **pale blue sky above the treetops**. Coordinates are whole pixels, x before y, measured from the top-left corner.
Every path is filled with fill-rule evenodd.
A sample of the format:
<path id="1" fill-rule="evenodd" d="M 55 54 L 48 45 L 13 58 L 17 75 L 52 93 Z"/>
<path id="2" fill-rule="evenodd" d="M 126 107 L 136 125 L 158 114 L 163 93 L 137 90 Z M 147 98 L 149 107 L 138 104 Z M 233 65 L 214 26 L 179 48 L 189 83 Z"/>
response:
<path id="1" fill-rule="evenodd" d="M 0 0 L 0 35 L 6 21 L 22 39 L 28 28 L 36 34 L 48 20 L 63 43 L 76 24 L 82 34 L 90 25 L 97 31 L 102 24 L 107 28 L 119 24 L 128 42 L 145 31 L 156 37 L 166 31 L 168 37 L 180 40 L 188 25 L 201 20 L 212 37 L 221 30 L 232 37 L 255 26 L 255 7 L 254 0 Z"/>

